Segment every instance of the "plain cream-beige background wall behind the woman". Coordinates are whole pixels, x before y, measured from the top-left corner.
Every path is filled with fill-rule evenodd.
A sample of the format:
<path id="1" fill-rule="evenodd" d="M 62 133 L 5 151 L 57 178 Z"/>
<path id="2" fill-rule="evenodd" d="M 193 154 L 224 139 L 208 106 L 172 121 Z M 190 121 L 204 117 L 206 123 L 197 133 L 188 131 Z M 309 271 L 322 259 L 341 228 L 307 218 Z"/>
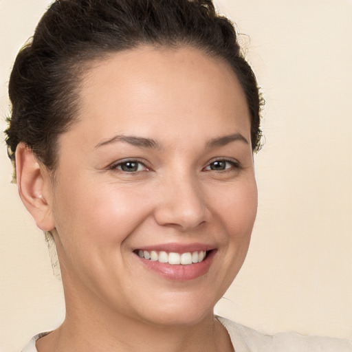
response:
<path id="1" fill-rule="evenodd" d="M 50 1 L 0 0 L 0 115 L 14 57 Z M 352 339 L 352 1 L 217 0 L 263 87 L 259 214 L 248 259 L 217 312 L 261 331 Z M 0 148 L 0 351 L 64 316 L 43 234 Z"/>

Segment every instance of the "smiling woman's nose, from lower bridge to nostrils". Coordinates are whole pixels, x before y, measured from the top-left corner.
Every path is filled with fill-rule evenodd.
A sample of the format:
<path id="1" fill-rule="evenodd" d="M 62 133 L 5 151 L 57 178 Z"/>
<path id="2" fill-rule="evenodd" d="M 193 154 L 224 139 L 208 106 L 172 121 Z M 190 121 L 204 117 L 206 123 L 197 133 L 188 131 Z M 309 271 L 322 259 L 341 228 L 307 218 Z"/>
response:
<path id="1" fill-rule="evenodd" d="M 186 232 L 206 221 L 208 210 L 204 193 L 190 176 L 173 177 L 163 182 L 157 199 L 154 216 L 159 225 L 174 226 Z"/>

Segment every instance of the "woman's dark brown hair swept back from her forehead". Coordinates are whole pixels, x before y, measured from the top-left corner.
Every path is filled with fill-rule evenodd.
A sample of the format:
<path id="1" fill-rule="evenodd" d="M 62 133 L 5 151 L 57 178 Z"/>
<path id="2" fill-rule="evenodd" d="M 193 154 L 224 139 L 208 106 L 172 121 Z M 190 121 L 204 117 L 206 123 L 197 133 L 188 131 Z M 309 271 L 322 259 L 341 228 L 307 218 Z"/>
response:
<path id="1" fill-rule="evenodd" d="M 76 121 L 85 64 L 145 44 L 187 45 L 228 62 L 245 92 L 252 148 L 259 150 L 259 87 L 234 26 L 211 0 L 57 0 L 17 55 L 10 76 L 12 114 L 5 133 L 12 161 L 17 144 L 24 142 L 54 170 L 58 135 Z"/>

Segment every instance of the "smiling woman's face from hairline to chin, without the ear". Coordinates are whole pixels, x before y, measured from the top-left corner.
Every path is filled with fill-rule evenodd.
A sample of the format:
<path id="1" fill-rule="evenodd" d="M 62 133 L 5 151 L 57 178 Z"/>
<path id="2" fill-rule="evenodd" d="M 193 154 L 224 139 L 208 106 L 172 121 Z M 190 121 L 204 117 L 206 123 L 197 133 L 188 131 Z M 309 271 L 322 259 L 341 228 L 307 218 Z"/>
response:
<path id="1" fill-rule="evenodd" d="M 68 311 L 162 325 L 212 314 L 257 206 L 230 66 L 191 48 L 113 54 L 85 75 L 79 119 L 59 138 L 51 203 Z"/>

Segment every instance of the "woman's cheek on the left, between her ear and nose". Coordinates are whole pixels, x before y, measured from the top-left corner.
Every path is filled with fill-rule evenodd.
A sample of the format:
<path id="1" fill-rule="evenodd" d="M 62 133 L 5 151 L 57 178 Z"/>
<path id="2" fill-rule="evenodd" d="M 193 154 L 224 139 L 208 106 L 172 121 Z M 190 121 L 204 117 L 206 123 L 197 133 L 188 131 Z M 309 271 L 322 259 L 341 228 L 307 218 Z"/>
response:
<path id="1" fill-rule="evenodd" d="M 141 201 L 146 198 L 130 187 L 94 181 L 71 184 L 58 190 L 58 226 L 65 233 L 89 238 L 94 245 L 122 242 L 148 214 L 148 204 Z"/>

